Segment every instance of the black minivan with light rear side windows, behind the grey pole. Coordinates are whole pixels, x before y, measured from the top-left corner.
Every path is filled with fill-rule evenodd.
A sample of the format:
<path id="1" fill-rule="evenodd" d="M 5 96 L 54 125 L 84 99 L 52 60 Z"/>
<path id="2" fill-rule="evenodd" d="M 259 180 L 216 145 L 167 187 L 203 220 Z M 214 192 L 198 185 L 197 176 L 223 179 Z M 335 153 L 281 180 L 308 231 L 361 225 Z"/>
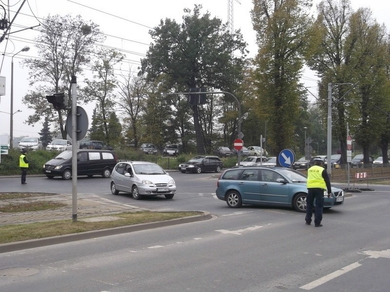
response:
<path id="1" fill-rule="evenodd" d="M 101 175 L 109 178 L 111 172 L 117 164 L 117 155 L 110 150 L 77 150 L 77 175 L 92 177 Z M 43 174 L 49 179 L 55 176 L 62 177 L 63 180 L 72 178 L 72 151 L 64 151 L 56 158 L 43 165 Z"/>

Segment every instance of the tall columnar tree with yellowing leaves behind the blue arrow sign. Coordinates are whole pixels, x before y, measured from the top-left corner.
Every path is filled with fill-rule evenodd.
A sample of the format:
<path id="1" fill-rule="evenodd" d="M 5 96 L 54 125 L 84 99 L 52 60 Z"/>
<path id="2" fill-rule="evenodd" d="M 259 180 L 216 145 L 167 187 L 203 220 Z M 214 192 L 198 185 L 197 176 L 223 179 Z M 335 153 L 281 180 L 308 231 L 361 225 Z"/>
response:
<path id="1" fill-rule="evenodd" d="M 254 111 L 267 121 L 268 142 L 279 153 L 294 142 L 303 92 L 299 78 L 313 32 L 311 0 L 253 0 L 252 20 L 259 44 L 252 78 Z"/>

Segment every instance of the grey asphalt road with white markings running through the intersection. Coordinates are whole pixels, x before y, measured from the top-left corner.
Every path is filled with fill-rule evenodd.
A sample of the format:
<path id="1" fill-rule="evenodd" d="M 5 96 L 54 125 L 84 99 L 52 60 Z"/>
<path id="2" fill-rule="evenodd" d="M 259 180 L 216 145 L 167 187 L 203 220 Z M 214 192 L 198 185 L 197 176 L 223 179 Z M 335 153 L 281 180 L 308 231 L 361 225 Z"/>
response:
<path id="1" fill-rule="evenodd" d="M 290 208 L 228 208 L 215 198 L 213 173 L 172 175 L 174 200 L 112 196 L 98 177 L 80 179 L 78 191 L 213 219 L 0 254 L 0 291 L 389 291 L 389 187 L 353 193 L 315 228 Z M 72 192 L 71 182 L 19 180 L 0 179 L 1 191 Z"/>

